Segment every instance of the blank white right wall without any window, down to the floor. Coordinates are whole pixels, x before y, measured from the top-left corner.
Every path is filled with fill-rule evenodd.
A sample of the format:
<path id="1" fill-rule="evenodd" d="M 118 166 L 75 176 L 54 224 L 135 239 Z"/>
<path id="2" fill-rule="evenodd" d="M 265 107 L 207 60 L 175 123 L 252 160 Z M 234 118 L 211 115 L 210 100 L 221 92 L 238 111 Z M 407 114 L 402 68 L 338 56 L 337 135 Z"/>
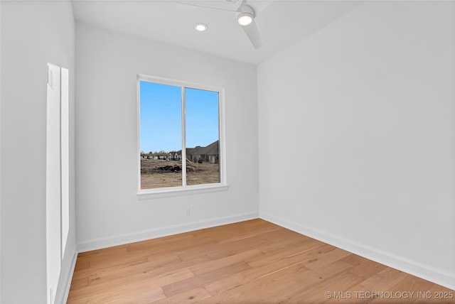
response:
<path id="1" fill-rule="evenodd" d="M 455 288 L 452 5 L 370 1 L 259 65 L 261 217 Z"/>

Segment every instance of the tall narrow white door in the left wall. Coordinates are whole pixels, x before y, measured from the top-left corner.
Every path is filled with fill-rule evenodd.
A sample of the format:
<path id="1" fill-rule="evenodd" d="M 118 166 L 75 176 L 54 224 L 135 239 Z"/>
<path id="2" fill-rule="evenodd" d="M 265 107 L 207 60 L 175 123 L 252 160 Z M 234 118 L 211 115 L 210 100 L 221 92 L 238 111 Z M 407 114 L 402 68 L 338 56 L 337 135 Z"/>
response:
<path id="1" fill-rule="evenodd" d="M 68 70 L 48 64 L 46 124 L 46 268 L 48 303 L 55 303 L 68 235 Z M 63 233 L 64 232 L 64 233 Z"/>

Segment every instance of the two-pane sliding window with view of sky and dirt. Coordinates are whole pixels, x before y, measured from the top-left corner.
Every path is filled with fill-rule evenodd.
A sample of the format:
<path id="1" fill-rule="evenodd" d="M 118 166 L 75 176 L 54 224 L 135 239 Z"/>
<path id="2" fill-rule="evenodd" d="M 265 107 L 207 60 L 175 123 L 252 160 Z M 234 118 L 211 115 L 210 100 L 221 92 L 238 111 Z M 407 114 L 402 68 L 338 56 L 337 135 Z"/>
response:
<path id="1" fill-rule="evenodd" d="M 225 185 L 223 89 L 139 75 L 139 192 Z"/>

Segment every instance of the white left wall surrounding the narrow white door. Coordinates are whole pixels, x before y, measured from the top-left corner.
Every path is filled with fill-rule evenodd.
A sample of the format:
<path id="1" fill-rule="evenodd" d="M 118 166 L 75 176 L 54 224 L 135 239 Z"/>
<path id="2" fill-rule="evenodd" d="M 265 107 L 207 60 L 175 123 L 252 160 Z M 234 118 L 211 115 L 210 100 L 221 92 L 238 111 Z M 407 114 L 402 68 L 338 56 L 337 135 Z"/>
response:
<path id="1" fill-rule="evenodd" d="M 47 63 L 70 70 L 74 123 L 74 21 L 68 1 L 1 3 L 1 303 L 46 303 L 45 151 Z M 74 172 L 74 128 L 70 168 Z M 75 254 L 74 175 L 70 234 L 57 298 Z M 57 301 L 58 302 L 58 301 Z"/>

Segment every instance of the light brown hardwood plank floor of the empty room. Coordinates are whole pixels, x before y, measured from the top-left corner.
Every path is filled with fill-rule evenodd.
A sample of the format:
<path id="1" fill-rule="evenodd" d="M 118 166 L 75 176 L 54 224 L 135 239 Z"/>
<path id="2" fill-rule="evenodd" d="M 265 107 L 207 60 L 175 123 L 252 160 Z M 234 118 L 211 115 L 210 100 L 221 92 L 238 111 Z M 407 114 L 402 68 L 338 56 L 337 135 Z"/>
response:
<path id="1" fill-rule="evenodd" d="M 68 303 L 455 303 L 455 291 L 262 219 L 81 253 Z"/>

